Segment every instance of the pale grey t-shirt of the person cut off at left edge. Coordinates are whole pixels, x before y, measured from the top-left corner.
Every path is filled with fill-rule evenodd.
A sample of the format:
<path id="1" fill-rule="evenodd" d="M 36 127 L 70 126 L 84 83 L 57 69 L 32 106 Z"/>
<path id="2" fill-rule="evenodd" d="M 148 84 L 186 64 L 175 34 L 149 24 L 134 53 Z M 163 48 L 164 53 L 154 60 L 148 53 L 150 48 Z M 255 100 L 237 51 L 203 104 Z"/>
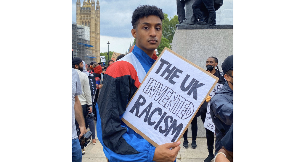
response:
<path id="1" fill-rule="evenodd" d="M 72 68 L 72 139 L 77 138 L 74 116 L 74 97 L 80 94 L 82 94 L 80 79 L 76 70 Z"/>

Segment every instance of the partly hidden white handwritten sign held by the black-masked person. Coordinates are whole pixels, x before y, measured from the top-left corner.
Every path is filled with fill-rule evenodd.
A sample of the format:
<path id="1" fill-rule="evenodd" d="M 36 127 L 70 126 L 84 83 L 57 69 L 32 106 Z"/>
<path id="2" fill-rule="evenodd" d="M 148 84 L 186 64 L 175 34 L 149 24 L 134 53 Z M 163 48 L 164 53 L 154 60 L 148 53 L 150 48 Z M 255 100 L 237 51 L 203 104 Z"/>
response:
<path id="1" fill-rule="evenodd" d="M 216 86 L 214 87 L 213 91 L 211 91 L 211 93 L 209 94 L 209 96 L 211 96 L 211 98 L 212 98 L 215 95 L 216 91 L 219 91 L 222 88 L 222 86 L 223 86 L 223 84 L 217 83 Z M 204 127 L 215 133 L 215 125 L 211 119 L 211 114 L 210 114 L 210 101 L 208 102 L 207 114 L 206 114 L 206 119 L 204 122 Z"/>

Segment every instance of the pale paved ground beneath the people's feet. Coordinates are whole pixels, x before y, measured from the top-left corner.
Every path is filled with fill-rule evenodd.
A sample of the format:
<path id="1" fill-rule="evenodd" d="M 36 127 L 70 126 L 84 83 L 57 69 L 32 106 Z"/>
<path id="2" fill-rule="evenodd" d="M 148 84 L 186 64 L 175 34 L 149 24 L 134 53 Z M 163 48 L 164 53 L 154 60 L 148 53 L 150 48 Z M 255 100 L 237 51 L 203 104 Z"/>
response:
<path id="1" fill-rule="evenodd" d="M 94 125 L 96 126 L 96 122 L 94 122 Z M 188 131 L 188 141 L 191 144 L 192 140 L 190 138 L 192 137 L 192 132 L 190 130 L 190 127 L 191 126 L 189 126 Z M 178 153 L 176 160 L 177 162 L 203 162 L 205 158 L 207 158 L 208 156 L 207 140 L 205 137 L 201 137 L 201 135 L 205 136 L 205 128 L 203 127 L 203 122 L 200 120 L 200 117 L 198 117 L 198 135 L 196 139 L 197 148 L 193 149 L 190 147 L 190 145 L 189 148 L 187 149 L 183 148 L 184 138 L 181 138 L 180 144 L 181 150 Z M 107 162 L 105 154 L 103 153 L 102 145 L 100 144 L 97 136 L 96 139 L 97 144 L 93 145 L 90 142 L 84 148 L 85 154 L 82 155 L 83 162 Z"/>

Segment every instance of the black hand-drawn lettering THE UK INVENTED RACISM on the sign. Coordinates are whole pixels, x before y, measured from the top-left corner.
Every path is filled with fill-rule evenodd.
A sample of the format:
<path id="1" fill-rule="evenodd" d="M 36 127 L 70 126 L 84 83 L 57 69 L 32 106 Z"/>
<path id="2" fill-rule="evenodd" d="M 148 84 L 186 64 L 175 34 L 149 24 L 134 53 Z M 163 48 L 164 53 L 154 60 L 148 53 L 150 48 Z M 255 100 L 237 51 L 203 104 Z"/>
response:
<path id="1" fill-rule="evenodd" d="M 161 69 L 165 65 L 167 65 L 164 71 L 160 74 L 160 76 L 165 77 L 165 80 L 167 80 L 170 84 L 175 85 L 176 82 L 173 79 L 179 78 L 178 73 L 181 74 L 183 71 L 176 68 L 175 66 L 170 69 L 171 64 L 166 60 L 160 59 L 160 62 L 160 66 L 155 71 L 155 73 L 159 74 Z M 204 84 L 199 83 L 199 81 L 197 81 L 195 78 L 192 78 L 188 86 L 185 86 L 189 78 L 190 75 L 186 75 L 179 89 L 187 92 L 186 97 L 190 97 L 191 94 L 193 94 L 192 98 L 197 100 L 197 88 L 203 86 Z M 184 120 L 192 117 L 192 114 L 195 112 L 193 103 L 185 99 L 183 96 L 176 94 L 176 92 L 168 86 L 163 87 L 162 83 L 156 81 L 153 78 L 150 78 L 144 87 L 145 88 L 142 90 L 142 92 L 146 95 L 139 94 L 136 102 L 129 110 L 129 112 L 131 114 L 134 114 L 135 112 L 135 116 L 138 118 L 141 118 L 143 115 L 145 115 L 143 122 L 146 122 L 150 126 L 154 126 L 153 129 L 158 130 L 160 133 L 164 134 L 165 137 L 167 137 L 170 132 L 171 135 L 175 134 L 171 140 L 171 142 L 175 142 L 176 138 L 179 137 L 179 134 L 184 127 L 182 122 L 179 122 L 178 124 L 177 121 L 179 119 Z M 146 98 L 144 96 L 149 96 L 150 98 L 155 100 L 156 102 L 154 102 L 154 104 L 158 103 L 157 106 L 155 106 L 156 108 L 152 109 L 153 102 L 146 104 Z M 145 109 L 143 109 L 141 113 L 139 113 L 140 107 L 142 107 L 141 109 L 145 107 Z M 175 115 L 168 115 L 168 113 L 164 111 L 165 109 L 161 109 L 160 107 L 165 108 L 167 111 Z M 152 117 L 156 113 L 159 115 L 160 118 L 158 121 L 152 121 Z M 174 119 L 174 117 L 179 117 L 179 119 Z M 160 125 L 162 122 L 164 123 L 164 127 Z M 171 125 L 169 125 L 169 122 L 171 123 Z"/>

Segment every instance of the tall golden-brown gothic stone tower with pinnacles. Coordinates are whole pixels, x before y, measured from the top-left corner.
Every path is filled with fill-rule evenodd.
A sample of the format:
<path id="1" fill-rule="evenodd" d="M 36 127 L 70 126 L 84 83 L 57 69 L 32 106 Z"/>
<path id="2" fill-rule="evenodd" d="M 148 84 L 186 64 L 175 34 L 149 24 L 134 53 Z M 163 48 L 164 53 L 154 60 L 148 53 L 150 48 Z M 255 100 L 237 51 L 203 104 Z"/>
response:
<path id="1" fill-rule="evenodd" d="M 88 26 L 90 29 L 90 45 L 92 54 L 100 62 L 100 29 L 99 29 L 99 1 L 96 6 L 94 0 L 84 0 L 80 7 L 80 0 L 76 1 L 76 24 Z"/>

